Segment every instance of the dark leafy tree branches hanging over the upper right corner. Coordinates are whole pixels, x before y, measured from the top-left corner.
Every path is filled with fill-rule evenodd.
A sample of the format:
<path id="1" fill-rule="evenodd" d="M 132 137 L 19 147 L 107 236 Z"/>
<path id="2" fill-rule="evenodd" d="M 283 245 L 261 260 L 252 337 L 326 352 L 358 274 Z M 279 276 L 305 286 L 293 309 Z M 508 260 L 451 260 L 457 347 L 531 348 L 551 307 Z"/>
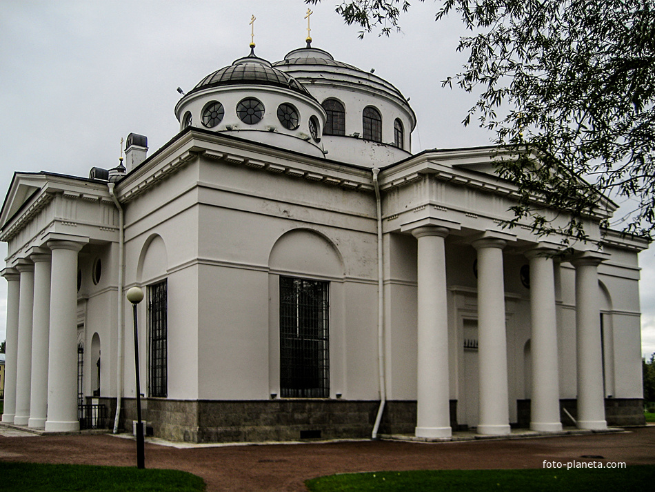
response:
<path id="1" fill-rule="evenodd" d="M 539 233 L 587 240 L 583 219 L 611 210 L 611 197 L 632 204 L 612 227 L 652 238 L 655 0 L 437 3 L 437 21 L 456 13 L 470 32 L 458 46 L 468 55 L 463 70 L 443 85 L 478 93 L 463 123 L 495 132 L 498 171 L 519 187 L 507 225 L 530 219 Z M 336 12 L 361 36 L 390 35 L 408 8 L 407 0 L 343 0 Z M 566 225 L 544 206 L 564 213 Z"/>

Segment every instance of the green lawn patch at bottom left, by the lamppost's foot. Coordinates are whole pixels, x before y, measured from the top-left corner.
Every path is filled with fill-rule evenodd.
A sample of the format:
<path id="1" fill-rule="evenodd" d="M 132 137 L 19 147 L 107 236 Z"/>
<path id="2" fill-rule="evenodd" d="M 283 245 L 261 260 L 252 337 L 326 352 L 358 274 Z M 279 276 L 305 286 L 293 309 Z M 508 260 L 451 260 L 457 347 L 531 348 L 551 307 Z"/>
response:
<path id="1" fill-rule="evenodd" d="M 0 462 L 3 492 L 201 492 L 202 478 L 178 470 Z"/>

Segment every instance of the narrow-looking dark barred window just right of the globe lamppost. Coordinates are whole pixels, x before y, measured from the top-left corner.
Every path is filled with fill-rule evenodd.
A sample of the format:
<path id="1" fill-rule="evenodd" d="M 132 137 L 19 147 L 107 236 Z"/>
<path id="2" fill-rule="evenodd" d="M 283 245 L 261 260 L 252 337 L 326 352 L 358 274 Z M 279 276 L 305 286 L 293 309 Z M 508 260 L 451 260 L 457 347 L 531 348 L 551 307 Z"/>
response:
<path id="1" fill-rule="evenodd" d="M 150 396 L 168 396 L 168 283 L 148 286 Z"/>

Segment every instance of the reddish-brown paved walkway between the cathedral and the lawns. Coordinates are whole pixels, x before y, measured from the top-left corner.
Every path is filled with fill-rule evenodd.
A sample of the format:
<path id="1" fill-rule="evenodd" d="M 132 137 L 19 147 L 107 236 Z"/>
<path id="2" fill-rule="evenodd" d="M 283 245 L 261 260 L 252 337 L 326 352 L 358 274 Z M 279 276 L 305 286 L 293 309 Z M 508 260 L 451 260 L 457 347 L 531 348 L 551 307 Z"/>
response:
<path id="1" fill-rule="evenodd" d="M 0 427 L 0 461 L 134 466 L 134 440 L 123 437 L 34 435 Z M 157 440 L 146 442 L 146 467 L 195 473 L 205 480 L 208 492 L 303 492 L 303 482 L 308 478 L 357 471 L 541 469 L 545 461 L 655 464 L 655 426 L 611 434 L 441 443 L 354 441 L 247 446 L 156 443 Z"/>

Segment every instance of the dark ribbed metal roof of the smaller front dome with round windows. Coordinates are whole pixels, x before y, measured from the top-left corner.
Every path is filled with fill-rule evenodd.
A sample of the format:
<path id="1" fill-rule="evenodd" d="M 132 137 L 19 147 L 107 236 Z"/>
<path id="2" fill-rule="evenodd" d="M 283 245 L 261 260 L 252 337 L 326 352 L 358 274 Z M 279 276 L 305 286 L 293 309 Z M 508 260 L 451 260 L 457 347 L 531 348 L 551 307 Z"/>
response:
<path id="1" fill-rule="evenodd" d="M 254 56 L 252 52 L 250 56 L 235 60 L 232 65 L 210 73 L 210 75 L 199 81 L 190 93 L 210 87 L 239 84 L 283 87 L 312 97 L 301 83 L 281 70 L 273 68 L 269 61 Z"/>

